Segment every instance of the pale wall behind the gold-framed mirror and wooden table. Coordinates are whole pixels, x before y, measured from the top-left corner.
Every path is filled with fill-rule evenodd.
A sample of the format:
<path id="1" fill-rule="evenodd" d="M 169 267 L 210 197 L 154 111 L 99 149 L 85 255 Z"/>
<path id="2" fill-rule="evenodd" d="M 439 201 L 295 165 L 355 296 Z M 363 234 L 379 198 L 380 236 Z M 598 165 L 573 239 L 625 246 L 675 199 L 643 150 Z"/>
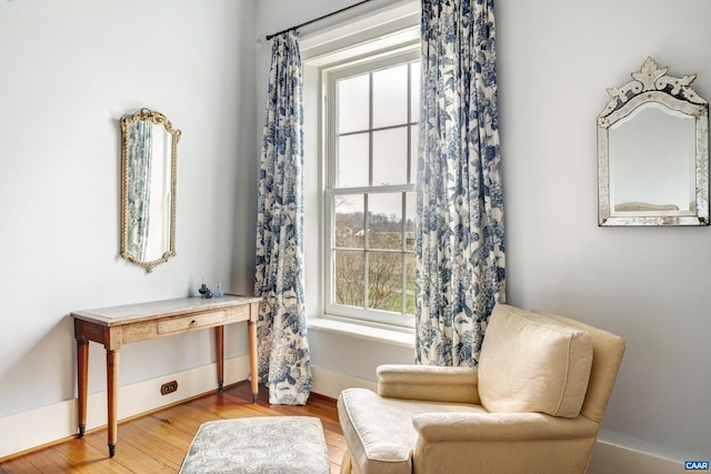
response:
<path id="1" fill-rule="evenodd" d="M 73 310 L 186 296 L 201 278 L 251 293 L 252 19 L 251 1 L 0 2 L 0 417 L 74 397 Z M 182 130 L 178 254 L 150 274 L 119 256 L 118 120 L 142 107 Z M 227 337 L 246 353 L 244 325 Z M 211 341 L 127 345 L 120 384 L 209 364 Z M 103 349 L 90 356 L 96 393 Z"/>

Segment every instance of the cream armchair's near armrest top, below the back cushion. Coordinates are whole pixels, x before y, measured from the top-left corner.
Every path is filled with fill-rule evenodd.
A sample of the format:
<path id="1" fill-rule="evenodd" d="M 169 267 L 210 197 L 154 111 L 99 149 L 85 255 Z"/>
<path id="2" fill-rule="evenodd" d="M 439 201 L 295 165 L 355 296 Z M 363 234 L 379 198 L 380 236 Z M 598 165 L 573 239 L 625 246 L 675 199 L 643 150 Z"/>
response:
<path id="1" fill-rule="evenodd" d="M 424 413 L 412 425 L 427 443 L 507 442 L 594 438 L 599 425 L 543 413 Z"/>

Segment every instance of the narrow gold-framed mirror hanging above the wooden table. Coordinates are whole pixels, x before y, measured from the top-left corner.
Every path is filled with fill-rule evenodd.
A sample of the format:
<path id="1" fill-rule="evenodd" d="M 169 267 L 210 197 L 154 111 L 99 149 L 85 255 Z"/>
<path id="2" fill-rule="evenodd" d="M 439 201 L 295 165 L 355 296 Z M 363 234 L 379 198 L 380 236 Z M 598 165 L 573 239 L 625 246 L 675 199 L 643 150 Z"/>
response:
<path id="1" fill-rule="evenodd" d="M 121 256 L 151 272 L 176 255 L 180 130 L 160 112 L 121 118 Z"/>

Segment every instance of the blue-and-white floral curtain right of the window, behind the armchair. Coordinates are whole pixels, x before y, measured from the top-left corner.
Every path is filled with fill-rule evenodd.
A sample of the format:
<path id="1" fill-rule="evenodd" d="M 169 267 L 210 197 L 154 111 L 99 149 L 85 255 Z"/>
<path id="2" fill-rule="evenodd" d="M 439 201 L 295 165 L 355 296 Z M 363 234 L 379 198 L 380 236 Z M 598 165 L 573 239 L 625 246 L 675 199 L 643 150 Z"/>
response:
<path id="1" fill-rule="evenodd" d="M 477 365 L 505 260 L 493 0 L 422 0 L 415 362 Z"/>

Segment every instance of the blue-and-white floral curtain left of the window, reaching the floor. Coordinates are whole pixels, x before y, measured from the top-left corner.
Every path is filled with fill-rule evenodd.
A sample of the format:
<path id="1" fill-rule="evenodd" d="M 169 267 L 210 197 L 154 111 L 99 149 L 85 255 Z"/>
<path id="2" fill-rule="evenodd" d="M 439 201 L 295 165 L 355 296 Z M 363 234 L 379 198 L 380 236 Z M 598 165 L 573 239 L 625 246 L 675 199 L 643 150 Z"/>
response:
<path id="1" fill-rule="evenodd" d="M 259 377 L 269 403 L 306 404 L 311 392 L 303 295 L 303 102 L 299 34 L 274 38 L 259 169 L 257 323 Z"/>

